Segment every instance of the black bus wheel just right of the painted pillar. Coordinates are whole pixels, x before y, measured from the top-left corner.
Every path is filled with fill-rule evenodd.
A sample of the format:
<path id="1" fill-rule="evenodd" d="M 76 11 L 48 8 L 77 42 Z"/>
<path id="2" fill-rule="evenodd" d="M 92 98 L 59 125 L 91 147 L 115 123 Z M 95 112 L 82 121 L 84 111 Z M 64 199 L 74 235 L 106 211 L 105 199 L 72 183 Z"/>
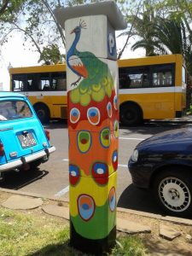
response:
<path id="1" fill-rule="evenodd" d="M 143 120 L 141 109 L 134 104 L 122 106 L 119 118 L 122 125 L 139 125 Z"/>

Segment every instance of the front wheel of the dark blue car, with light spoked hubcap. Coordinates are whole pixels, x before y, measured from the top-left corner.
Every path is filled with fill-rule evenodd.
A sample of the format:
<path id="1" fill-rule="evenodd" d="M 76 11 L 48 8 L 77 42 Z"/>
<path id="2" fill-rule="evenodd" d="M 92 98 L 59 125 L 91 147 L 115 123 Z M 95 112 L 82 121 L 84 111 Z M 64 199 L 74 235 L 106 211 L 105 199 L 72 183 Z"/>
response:
<path id="1" fill-rule="evenodd" d="M 192 216 L 192 177 L 184 167 L 172 167 L 154 179 L 154 197 L 164 212 L 177 217 Z"/>

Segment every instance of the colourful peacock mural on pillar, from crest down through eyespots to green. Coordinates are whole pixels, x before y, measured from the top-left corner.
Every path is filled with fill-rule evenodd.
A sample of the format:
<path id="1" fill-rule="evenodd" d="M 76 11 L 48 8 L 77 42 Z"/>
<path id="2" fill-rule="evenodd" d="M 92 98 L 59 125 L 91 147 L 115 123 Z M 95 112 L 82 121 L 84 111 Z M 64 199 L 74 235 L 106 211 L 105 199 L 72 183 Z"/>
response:
<path id="1" fill-rule="evenodd" d="M 119 106 L 114 61 L 79 50 L 84 20 L 68 37 L 71 241 L 102 243 L 115 236 Z M 117 73 L 117 67 L 115 72 Z M 113 239 L 114 240 L 114 239 Z"/>

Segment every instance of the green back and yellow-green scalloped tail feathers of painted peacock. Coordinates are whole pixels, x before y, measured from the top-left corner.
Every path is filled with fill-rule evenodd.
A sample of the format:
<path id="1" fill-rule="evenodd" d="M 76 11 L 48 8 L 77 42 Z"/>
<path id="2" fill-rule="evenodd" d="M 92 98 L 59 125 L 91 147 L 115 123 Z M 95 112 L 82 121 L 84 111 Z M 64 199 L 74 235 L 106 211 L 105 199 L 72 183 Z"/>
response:
<path id="1" fill-rule="evenodd" d="M 84 67 L 86 67 L 88 77 L 70 91 L 70 100 L 73 103 L 87 106 L 91 100 L 102 102 L 105 96 L 110 97 L 114 84 L 108 65 L 90 52 L 79 52 L 76 50 L 75 55 L 79 56 Z"/>

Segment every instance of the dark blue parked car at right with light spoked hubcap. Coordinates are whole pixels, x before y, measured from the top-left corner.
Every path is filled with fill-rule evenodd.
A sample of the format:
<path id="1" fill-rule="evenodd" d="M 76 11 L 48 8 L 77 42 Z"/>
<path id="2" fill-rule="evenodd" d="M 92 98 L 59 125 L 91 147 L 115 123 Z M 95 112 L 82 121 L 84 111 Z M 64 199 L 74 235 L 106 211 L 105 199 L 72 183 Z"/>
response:
<path id="1" fill-rule="evenodd" d="M 132 182 L 151 189 L 165 212 L 192 215 L 192 128 L 162 132 L 139 143 L 128 167 Z"/>

